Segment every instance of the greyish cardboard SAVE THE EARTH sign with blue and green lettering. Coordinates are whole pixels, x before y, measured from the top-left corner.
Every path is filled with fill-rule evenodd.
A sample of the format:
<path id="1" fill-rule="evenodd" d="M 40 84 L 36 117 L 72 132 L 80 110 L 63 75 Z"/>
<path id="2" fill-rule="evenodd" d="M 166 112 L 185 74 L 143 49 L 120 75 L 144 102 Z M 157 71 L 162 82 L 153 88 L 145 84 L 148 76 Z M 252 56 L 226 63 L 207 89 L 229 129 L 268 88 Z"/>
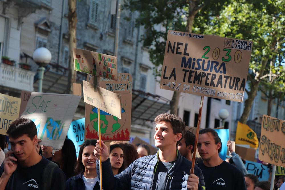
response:
<path id="1" fill-rule="evenodd" d="M 81 96 L 32 92 L 23 117 L 37 127 L 40 144 L 62 148 Z"/>

